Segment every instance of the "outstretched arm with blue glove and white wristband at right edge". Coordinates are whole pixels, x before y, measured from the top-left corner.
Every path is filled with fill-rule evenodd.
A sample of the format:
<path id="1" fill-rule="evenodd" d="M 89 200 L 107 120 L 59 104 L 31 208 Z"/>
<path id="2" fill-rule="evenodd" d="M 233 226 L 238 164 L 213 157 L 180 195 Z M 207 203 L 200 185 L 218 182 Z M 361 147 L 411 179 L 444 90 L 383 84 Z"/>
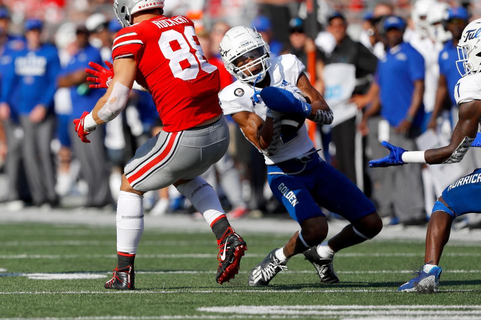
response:
<path id="1" fill-rule="evenodd" d="M 472 146 L 480 144 L 478 143 L 479 141 L 475 141 L 480 117 L 481 100 L 461 103 L 459 106 L 459 121 L 452 132 L 451 142 L 448 145 L 425 151 L 406 151 L 403 148 L 383 141 L 382 145 L 389 149 L 389 155 L 369 161 L 369 166 L 385 167 L 405 163 L 439 164 L 459 162 L 471 144 Z"/>

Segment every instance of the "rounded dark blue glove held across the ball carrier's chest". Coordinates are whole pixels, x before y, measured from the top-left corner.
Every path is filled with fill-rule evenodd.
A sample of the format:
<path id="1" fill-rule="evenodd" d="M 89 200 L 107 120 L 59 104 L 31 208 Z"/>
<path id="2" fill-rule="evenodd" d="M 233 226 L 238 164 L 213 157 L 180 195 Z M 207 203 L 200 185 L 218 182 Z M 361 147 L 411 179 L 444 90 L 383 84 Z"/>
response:
<path id="1" fill-rule="evenodd" d="M 311 115 L 311 104 L 297 99 L 291 91 L 268 86 L 261 90 L 261 98 L 272 110 L 282 113 L 295 113 L 307 118 Z"/>

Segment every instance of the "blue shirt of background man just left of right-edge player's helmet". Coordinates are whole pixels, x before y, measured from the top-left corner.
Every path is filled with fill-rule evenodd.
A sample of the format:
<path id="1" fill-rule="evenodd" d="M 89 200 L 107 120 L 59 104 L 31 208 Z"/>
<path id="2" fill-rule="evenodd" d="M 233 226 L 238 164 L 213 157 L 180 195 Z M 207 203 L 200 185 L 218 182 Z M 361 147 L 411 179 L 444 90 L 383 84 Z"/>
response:
<path id="1" fill-rule="evenodd" d="M 456 85 L 457 81 L 461 78 L 461 74 L 459 74 L 456 67 L 457 59 L 457 48 L 452 41 L 449 40 L 444 43 L 441 52 L 439 52 L 438 62 L 439 73 L 446 77 L 447 92 L 453 105 L 456 104 L 456 99 L 454 98 L 454 94 L 452 92 L 454 92 L 454 86 Z"/>

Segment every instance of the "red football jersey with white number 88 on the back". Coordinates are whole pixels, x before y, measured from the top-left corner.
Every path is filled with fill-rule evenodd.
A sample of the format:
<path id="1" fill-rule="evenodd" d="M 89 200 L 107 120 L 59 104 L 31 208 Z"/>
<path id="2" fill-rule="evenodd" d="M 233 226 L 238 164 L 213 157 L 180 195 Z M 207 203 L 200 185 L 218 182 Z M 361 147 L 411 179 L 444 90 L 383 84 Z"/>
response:
<path id="1" fill-rule="evenodd" d="M 159 16 L 123 28 L 112 57 L 127 56 L 137 62 L 136 81 L 152 93 L 165 131 L 189 129 L 222 113 L 219 71 L 207 62 L 190 19 Z"/>

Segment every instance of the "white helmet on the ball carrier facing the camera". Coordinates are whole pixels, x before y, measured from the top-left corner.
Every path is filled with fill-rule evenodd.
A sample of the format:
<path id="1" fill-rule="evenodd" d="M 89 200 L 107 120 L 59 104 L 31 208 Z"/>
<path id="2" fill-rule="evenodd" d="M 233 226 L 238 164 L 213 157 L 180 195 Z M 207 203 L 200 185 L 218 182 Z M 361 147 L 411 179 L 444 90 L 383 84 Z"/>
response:
<path id="1" fill-rule="evenodd" d="M 220 56 L 225 68 L 242 82 L 254 82 L 264 79 L 271 67 L 269 44 L 261 34 L 245 26 L 236 26 L 228 30 L 220 41 Z M 240 59 L 254 58 L 249 63 L 237 66 Z M 259 72 L 252 73 L 251 68 L 261 65 Z"/>

